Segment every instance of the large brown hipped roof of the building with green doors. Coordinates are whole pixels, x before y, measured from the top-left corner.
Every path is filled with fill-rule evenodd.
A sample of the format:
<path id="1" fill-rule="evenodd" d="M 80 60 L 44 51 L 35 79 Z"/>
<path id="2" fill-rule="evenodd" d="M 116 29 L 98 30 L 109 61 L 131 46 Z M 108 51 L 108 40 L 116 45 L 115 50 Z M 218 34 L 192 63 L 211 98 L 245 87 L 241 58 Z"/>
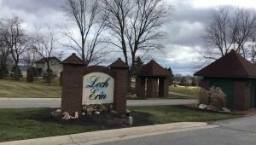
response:
<path id="1" fill-rule="evenodd" d="M 256 78 L 256 67 L 235 50 L 195 73 L 203 77 Z"/>

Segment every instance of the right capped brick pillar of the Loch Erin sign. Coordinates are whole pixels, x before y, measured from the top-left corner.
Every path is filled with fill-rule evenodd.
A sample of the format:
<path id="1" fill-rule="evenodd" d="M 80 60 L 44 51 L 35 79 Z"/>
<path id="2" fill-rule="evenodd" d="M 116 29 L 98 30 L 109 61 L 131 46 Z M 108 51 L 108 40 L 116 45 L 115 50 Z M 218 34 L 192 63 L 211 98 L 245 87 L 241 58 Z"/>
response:
<path id="1" fill-rule="evenodd" d="M 114 95 L 113 95 L 113 108 L 118 113 L 126 113 L 126 95 L 129 67 L 124 61 L 119 59 L 109 66 L 114 71 Z"/>

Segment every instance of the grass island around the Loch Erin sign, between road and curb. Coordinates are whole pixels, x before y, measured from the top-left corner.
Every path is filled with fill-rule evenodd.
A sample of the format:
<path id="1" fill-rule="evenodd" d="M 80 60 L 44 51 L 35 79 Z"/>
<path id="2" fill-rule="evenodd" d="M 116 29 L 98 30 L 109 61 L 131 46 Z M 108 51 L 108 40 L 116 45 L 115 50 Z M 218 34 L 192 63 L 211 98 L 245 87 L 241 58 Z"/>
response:
<path id="1" fill-rule="evenodd" d="M 181 121 L 213 121 L 237 117 L 171 106 L 129 107 L 129 109 L 134 116 L 135 125 L 154 125 Z M 65 121 L 63 123 L 60 120 L 56 121 L 52 118 L 42 117 L 53 110 L 49 108 L 0 109 L 0 142 L 108 129 L 103 125 L 80 125 L 72 122 L 65 123 Z M 42 119 L 38 119 L 41 117 Z"/>

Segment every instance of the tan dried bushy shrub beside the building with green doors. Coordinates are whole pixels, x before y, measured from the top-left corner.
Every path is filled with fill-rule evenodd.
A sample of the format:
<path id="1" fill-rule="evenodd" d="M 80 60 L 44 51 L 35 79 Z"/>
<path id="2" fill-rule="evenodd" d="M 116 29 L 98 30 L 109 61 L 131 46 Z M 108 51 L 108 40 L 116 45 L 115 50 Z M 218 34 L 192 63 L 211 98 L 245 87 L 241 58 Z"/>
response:
<path id="1" fill-rule="evenodd" d="M 220 109 L 221 107 L 225 107 L 226 95 L 220 88 L 215 88 L 214 86 L 209 90 L 201 89 L 199 103 L 212 105 Z"/>

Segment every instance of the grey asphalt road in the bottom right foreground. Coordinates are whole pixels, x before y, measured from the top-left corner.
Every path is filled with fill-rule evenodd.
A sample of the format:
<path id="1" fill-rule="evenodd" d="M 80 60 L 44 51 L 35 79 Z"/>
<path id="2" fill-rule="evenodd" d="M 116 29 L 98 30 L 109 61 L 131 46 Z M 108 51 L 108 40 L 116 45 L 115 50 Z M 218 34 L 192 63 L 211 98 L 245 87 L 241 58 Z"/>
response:
<path id="1" fill-rule="evenodd" d="M 185 131 L 102 145 L 255 145 L 256 116 L 216 123 L 218 128 Z"/>

